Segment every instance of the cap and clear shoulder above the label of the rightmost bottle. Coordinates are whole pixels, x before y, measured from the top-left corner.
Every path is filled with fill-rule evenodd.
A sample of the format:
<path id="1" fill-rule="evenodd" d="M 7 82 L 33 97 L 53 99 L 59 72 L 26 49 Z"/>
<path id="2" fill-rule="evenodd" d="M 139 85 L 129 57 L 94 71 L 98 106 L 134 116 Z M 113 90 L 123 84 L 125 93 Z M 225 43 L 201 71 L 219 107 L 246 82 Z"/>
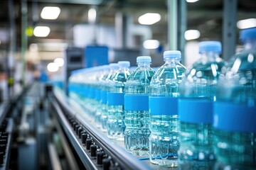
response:
<path id="1" fill-rule="evenodd" d="M 256 28 L 240 31 L 243 50 L 235 54 L 220 75 L 218 98 L 256 105 Z"/>

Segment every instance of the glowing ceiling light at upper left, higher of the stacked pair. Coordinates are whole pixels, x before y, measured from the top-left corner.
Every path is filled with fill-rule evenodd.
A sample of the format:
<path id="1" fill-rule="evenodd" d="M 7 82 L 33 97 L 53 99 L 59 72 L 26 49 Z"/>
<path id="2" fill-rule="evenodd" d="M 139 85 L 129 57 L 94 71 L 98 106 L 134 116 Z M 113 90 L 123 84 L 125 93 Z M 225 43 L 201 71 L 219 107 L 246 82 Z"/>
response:
<path id="1" fill-rule="evenodd" d="M 60 15 L 60 8 L 58 6 L 45 6 L 41 12 L 41 18 L 55 20 Z"/>

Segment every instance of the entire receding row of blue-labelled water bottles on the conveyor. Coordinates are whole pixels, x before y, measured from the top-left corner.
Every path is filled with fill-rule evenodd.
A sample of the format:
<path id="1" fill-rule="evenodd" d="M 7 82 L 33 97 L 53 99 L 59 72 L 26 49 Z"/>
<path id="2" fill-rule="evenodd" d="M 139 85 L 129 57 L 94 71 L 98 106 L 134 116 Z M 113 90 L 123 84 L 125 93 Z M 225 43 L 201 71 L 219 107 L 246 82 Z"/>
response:
<path id="1" fill-rule="evenodd" d="M 128 152 L 179 169 L 256 169 L 256 28 L 242 30 L 242 52 L 229 62 L 221 43 L 200 42 L 200 60 L 186 69 L 180 51 L 80 69 L 70 98 L 87 120 Z"/>

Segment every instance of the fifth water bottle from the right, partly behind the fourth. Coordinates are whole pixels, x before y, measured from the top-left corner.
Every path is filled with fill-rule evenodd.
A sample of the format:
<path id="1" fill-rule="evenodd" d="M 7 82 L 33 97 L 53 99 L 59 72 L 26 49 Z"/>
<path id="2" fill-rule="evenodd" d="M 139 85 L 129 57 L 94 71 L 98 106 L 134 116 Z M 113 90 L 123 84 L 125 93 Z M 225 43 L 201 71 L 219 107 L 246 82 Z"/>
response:
<path id="1" fill-rule="evenodd" d="M 130 76 L 130 62 L 118 62 L 119 69 L 110 79 L 110 92 L 107 93 L 107 137 L 124 140 L 124 85 Z"/>

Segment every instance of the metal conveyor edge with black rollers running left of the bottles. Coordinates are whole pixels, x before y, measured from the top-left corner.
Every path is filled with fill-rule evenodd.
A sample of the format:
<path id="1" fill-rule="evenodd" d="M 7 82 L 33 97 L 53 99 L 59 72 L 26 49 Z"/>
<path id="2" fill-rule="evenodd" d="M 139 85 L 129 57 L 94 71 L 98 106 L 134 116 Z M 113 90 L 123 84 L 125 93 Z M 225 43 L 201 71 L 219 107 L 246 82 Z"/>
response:
<path id="1" fill-rule="evenodd" d="M 50 103 L 86 169 L 151 169 L 76 113 L 66 98 L 54 93 Z"/>

